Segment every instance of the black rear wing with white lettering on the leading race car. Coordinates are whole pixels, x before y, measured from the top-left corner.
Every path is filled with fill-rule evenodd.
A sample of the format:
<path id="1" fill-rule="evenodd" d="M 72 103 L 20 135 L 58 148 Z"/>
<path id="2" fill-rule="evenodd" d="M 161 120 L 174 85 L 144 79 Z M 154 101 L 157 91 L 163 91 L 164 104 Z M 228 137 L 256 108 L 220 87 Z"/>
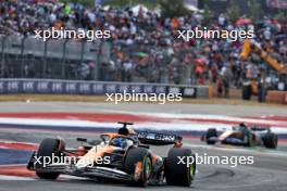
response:
<path id="1" fill-rule="evenodd" d="M 183 140 L 180 136 L 152 131 L 137 131 L 137 137 L 140 143 L 152 145 L 180 144 Z"/>

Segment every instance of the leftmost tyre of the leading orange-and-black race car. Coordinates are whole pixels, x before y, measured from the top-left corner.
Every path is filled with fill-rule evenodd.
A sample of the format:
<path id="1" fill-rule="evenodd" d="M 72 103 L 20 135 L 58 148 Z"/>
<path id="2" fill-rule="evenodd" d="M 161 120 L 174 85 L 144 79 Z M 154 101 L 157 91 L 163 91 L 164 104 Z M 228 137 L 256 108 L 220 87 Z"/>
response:
<path id="1" fill-rule="evenodd" d="M 37 151 L 37 157 L 40 158 L 38 163 L 35 166 L 35 170 L 36 170 L 36 175 L 41 178 L 41 179 L 57 179 L 59 177 L 59 173 L 48 173 L 45 171 L 45 166 L 43 165 L 48 165 L 51 163 L 46 163 L 45 162 L 45 157 L 48 158 L 50 157 L 50 161 L 52 161 L 53 156 L 62 156 L 61 153 L 64 150 L 64 142 L 62 140 L 59 139 L 51 139 L 51 138 L 47 138 L 43 139 L 39 145 L 39 149 Z"/>

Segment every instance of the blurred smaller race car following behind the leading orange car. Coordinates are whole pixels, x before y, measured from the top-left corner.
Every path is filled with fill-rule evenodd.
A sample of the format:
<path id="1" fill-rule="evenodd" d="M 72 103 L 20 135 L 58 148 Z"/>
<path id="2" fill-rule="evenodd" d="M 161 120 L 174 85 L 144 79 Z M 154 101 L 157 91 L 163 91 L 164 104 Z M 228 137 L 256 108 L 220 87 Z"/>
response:
<path id="1" fill-rule="evenodd" d="M 233 145 L 261 145 L 269 149 L 276 149 L 278 137 L 271 131 L 270 127 L 248 127 L 246 124 L 234 126 L 232 130 L 219 131 L 215 128 L 210 128 L 202 135 L 201 141 L 207 144 L 215 144 L 221 142 L 223 144 Z"/>

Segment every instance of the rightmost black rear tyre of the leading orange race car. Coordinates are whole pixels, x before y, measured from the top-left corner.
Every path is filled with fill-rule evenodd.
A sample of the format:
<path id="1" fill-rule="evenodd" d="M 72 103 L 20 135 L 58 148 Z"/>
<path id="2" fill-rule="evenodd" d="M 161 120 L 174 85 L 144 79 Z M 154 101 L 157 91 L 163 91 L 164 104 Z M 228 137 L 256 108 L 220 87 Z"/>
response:
<path id="1" fill-rule="evenodd" d="M 190 187 L 196 175 L 196 157 L 191 150 L 172 148 L 165 160 L 164 174 L 167 184 Z"/>

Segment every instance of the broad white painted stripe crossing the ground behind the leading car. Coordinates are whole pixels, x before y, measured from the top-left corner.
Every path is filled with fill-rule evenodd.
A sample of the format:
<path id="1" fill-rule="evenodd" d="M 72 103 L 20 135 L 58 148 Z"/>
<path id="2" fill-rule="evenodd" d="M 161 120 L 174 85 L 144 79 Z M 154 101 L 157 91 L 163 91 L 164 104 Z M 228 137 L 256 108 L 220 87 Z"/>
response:
<path id="1" fill-rule="evenodd" d="M 236 122 L 234 122 L 236 124 Z M 273 122 L 274 123 L 274 122 Z M 277 122 L 278 124 L 280 122 Z M 42 126 L 61 126 L 62 128 L 120 128 L 120 124 L 115 123 L 107 123 L 107 122 L 90 122 L 90 120 L 80 120 L 80 119 L 39 119 L 39 118 L 3 118 L 0 117 L 0 124 L 8 124 L 8 125 L 27 125 L 27 126 L 35 126 L 37 128 L 41 128 Z M 186 130 L 186 131 L 205 131 L 209 128 L 216 128 L 219 130 L 223 129 L 230 129 L 232 124 L 222 124 L 208 122 L 186 122 L 186 120 L 173 120 L 173 122 L 145 122 L 145 123 L 137 123 L 134 125 L 135 129 L 154 129 L 154 130 Z M 287 133 L 287 128 L 276 127 L 273 125 L 272 130 L 276 133 Z"/>

